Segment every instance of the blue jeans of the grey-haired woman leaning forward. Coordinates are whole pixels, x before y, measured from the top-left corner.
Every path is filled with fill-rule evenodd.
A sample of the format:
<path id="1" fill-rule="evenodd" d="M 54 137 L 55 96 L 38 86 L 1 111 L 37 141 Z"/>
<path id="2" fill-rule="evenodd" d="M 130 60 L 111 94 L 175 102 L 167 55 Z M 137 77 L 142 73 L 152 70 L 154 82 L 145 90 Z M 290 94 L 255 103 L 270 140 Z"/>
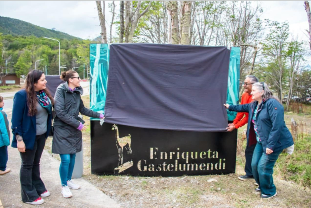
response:
<path id="1" fill-rule="evenodd" d="M 259 188 L 262 194 L 267 196 L 273 196 L 276 193 L 276 187 L 273 183 L 273 166 L 281 154 L 281 151 L 275 151 L 271 154 L 266 154 L 266 151 L 262 149 L 262 143 L 257 142 L 253 159 L 252 170 L 256 183 L 259 184 Z"/>

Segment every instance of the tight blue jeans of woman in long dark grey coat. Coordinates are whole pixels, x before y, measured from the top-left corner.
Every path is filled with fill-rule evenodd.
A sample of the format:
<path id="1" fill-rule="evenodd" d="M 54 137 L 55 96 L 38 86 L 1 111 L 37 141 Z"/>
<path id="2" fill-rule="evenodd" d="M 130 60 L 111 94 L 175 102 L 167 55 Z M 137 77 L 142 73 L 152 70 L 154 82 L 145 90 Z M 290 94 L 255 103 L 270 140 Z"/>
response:
<path id="1" fill-rule="evenodd" d="M 59 166 L 60 180 L 62 186 L 67 186 L 67 181 L 71 180 L 73 167 L 75 166 L 76 154 L 59 154 L 62 162 Z"/>

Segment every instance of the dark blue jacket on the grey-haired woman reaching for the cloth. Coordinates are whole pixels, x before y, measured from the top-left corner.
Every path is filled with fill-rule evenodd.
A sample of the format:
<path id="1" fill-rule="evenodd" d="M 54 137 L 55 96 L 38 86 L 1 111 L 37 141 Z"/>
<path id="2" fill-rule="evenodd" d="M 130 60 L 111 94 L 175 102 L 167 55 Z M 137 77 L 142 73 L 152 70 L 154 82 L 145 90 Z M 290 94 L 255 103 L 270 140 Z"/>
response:
<path id="1" fill-rule="evenodd" d="M 258 102 L 254 101 L 245 105 L 229 106 L 229 111 L 248 112 L 247 138 L 251 136 L 250 133 L 255 133 L 252 118 L 257 105 Z M 262 101 L 258 107 L 256 124 L 264 152 L 267 147 L 273 151 L 280 151 L 294 144 L 293 137 L 285 125 L 284 107 L 276 99 Z"/>

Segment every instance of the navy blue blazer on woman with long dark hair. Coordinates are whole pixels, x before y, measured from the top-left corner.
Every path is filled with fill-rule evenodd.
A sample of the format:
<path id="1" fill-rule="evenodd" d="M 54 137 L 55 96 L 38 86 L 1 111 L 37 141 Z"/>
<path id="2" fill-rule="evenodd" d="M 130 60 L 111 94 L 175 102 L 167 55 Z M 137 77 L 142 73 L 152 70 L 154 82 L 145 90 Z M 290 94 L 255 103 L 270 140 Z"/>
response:
<path id="1" fill-rule="evenodd" d="M 48 115 L 48 127 L 45 133 L 45 138 L 48 138 L 51 129 L 52 114 Z M 13 99 L 12 110 L 12 147 L 17 148 L 16 135 L 21 135 L 26 145 L 26 149 L 32 150 L 34 148 L 36 139 L 36 116 L 28 115 L 27 93 L 22 89 L 15 93 Z"/>

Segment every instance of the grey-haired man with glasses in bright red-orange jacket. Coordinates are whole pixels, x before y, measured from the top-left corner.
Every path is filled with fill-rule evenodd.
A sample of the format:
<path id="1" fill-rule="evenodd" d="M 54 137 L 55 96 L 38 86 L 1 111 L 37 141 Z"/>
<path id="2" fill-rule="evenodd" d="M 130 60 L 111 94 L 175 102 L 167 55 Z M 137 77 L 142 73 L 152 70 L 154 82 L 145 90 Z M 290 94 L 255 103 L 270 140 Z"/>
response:
<path id="1" fill-rule="evenodd" d="M 242 94 L 241 99 L 241 105 L 247 104 L 253 101 L 251 92 L 252 92 L 252 86 L 254 83 L 259 82 L 257 77 L 253 75 L 247 75 L 245 77 L 245 80 L 243 82 L 244 87 L 244 93 Z M 245 115 L 245 116 L 244 116 Z M 233 123 L 228 124 L 228 127 L 226 128 L 227 131 L 233 131 L 234 129 L 238 129 L 241 126 L 244 126 L 248 122 L 248 113 L 240 112 L 237 113 L 235 119 L 233 120 Z M 240 180 L 247 180 L 247 179 L 253 179 L 253 172 L 252 172 L 252 158 L 253 158 L 253 152 L 256 146 L 256 139 L 250 139 L 247 138 L 247 144 L 245 148 L 245 175 L 241 175 L 238 178 Z"/>

